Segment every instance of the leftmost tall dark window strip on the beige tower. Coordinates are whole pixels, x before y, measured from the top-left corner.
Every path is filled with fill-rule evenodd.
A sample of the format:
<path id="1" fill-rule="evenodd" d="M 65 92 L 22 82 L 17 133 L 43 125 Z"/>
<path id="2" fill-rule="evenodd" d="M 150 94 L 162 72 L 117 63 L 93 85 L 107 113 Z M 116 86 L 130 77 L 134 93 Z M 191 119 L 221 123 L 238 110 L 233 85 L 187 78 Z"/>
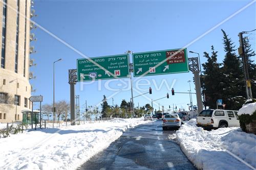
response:
<path id="1" fill-rule="evenodd" d="M 6 0 L 3 0 L 1 68 L 5 68 Z"/>

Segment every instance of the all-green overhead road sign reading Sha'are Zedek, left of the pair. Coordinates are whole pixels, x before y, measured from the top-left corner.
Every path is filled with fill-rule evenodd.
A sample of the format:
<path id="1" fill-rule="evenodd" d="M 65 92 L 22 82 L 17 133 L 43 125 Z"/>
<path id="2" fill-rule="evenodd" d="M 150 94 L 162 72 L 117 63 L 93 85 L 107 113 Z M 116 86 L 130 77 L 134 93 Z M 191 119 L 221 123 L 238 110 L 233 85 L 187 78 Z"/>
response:
<path id="1" fill-rule="evenodd" d="M 77 59 L 77 81 L 92 81 L 129 77 L 127 54 Z"/>

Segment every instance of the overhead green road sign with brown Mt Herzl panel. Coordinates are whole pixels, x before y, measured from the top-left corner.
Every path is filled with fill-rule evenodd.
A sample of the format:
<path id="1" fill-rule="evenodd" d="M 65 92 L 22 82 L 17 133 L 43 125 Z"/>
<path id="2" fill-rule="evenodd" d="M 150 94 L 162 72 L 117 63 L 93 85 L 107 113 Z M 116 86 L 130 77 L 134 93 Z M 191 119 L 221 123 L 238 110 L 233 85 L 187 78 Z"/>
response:
<path id="1" fill-rule="evenodd" d="M 188 72 L 187 49 L 180 50 L 134 53 L 134 77 Z"/>

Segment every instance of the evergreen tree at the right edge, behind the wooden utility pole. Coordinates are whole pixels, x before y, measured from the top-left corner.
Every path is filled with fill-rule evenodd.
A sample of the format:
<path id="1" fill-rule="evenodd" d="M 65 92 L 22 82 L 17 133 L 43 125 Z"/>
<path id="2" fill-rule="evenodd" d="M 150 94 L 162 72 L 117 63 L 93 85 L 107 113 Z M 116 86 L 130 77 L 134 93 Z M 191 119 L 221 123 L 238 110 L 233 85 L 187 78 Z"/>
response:
<path id="1" fill-rule="evenodd" d="M 251 57 L 254 57 L 256 54 L 255 52 L 251 49 L 251 44 L 249 42 L 248 37 L 244 37 L 244 50 L 245 50 L 245 57 L 247 59 L 247 66 L 248 66 L 248 72 L 249 72 L 249 78 L 250 80 L 256 80 L 256 64 L 253 63 L 251 60 Z M 256 84 L 251 83 L 251 92 L 252 92 L 252 97 L 256 98 Z"/>

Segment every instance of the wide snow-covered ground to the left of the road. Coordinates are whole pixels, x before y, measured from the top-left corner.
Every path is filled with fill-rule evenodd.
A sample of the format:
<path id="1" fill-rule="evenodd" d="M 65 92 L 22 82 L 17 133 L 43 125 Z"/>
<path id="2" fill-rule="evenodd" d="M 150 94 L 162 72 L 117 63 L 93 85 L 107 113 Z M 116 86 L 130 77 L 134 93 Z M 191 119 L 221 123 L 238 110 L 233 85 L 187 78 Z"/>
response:
<path id="1" fill-rule="evenodd" d="M 0 139 L 0 169 L 75 169 L 143 118 L 28 131 Z"/>

